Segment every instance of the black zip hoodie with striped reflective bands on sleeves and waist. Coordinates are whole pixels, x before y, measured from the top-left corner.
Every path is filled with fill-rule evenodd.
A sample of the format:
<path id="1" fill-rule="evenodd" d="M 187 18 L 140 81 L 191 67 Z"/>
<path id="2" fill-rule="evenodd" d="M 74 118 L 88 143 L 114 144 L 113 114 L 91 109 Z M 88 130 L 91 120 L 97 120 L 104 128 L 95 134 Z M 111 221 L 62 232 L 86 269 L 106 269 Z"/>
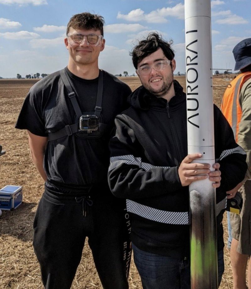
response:
<path id="1" fill-rule="evenodd" d="M 186 95 L 174 80 L 175 96 L 157 98 L 143 87 L 128 98 L 131 107 L 115 119 L 108 173 L 112 193 L 127 199 L 131 240 L 139 248 L 189 258 L 189 193 L 178 168 L 187 155 Z M 244 179 L 246 154 L 214 105 L 215 156 L 222 172 L 216 190 L 218 250 L 224 247 L 222 216 L 226 191 Z"/>

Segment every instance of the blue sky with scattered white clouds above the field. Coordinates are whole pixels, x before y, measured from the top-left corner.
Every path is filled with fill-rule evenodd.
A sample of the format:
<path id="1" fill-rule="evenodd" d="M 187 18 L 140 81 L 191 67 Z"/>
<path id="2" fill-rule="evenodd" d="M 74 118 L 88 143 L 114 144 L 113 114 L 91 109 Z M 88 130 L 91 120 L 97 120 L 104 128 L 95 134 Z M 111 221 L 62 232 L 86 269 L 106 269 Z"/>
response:
<path id="1" fill-rule="evenodd" d="M 150 31 L 173 40 L 176 73 L 185 72 L 184 0 L 0 0 L 0 76 L 51 73 L 65 67 L 66 25 L 89 11 L 105 19 L 99 67 L 113 74 L 135 72 L 129 51 Z M 212 0 L 213 68 L 234 68 L 233 47 L 251 37 L 250 0 Z"/>

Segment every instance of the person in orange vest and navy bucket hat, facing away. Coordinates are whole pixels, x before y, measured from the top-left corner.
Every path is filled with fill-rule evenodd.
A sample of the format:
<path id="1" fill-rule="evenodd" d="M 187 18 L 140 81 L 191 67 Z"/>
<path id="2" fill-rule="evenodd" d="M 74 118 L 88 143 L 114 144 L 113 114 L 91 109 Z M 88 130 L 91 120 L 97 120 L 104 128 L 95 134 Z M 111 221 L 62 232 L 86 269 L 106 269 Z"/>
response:
<path id="1" fill-rule="evenodd" d="M 222 98 L 221 110 L 232 127 L 236 142 L 247 153 L 248 170 L 245 179 L 231 191 L 233 198 L 239 190 L 243 197 L 241 214 L 230 213 L 232 243 L 230 258 L 233 270 L 233 289 L 251 288 L 251 38 L 239 42 L 233 49 L 234 70 L 240 74 L 232 80 Z"/>

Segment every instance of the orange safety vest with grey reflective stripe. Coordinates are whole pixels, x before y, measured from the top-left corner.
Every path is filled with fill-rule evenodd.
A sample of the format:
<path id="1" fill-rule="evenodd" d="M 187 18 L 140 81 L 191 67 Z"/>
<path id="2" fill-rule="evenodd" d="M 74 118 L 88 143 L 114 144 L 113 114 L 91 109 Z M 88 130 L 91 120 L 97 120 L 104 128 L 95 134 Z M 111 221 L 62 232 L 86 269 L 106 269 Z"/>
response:
<path id="1" fill-rule="evenodd" d="M 236 142 L 238 142 L 239 123 L 242 117 L 242 108 L 239 101 L 240 92 L 243 84 L 249 78 L 251 78 L 251 72 L 239 74 L 228 84 L 222 98 L 221 111 L 232 127 Z"/>

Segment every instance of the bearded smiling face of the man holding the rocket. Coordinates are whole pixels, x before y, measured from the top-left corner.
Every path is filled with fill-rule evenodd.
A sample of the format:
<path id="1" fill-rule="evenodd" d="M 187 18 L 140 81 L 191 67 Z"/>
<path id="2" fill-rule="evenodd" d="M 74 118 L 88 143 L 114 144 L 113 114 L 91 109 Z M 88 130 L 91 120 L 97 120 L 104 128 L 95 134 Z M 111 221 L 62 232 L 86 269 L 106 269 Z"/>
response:
<path id="1" fill-rule="evenodd" d="M 171 64 L 164 70 L 157 71 L 153 68 L 154 64 L 162 61 L 168 60 L 163 53 L 163 50 L 159 48 L 157 51 L 146 56 L 138 63 L 138 69 L 144 66 L 152 67 L 148 75 L 139 75 L 142 85 L 152 94 L 157 97 L 163 97 L 166 95 L 173 84 L 174 79 L 174 69 L 176 68 L 175 60 L 171 61 Z"/>

